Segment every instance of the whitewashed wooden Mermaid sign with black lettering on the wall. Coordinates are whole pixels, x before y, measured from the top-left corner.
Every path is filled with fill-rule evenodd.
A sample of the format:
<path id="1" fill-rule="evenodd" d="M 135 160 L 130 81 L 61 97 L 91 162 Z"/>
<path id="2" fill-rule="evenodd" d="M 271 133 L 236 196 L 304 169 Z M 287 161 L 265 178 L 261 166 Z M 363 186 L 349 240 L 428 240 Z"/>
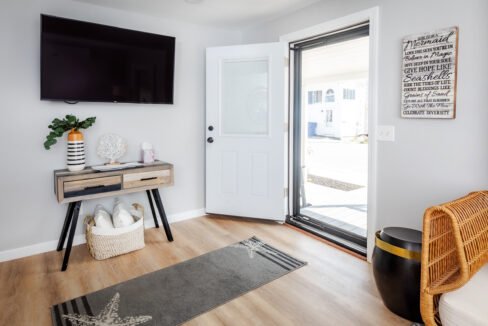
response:
<path id="1" fill-rule="evenodd" d="M 402 118 L 456 117 L 458 28 L 403 39 Z"/>

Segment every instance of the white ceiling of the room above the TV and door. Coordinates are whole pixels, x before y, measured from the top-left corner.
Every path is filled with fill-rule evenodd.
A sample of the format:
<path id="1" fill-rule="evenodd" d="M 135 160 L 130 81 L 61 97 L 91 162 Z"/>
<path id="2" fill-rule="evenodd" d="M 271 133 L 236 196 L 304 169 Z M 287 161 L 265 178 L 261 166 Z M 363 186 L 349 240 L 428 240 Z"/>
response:
<path id="1" fill-rule="evenodd" d="M 76 0 L 213 27 L 241 29 L 321 0 Z"/>

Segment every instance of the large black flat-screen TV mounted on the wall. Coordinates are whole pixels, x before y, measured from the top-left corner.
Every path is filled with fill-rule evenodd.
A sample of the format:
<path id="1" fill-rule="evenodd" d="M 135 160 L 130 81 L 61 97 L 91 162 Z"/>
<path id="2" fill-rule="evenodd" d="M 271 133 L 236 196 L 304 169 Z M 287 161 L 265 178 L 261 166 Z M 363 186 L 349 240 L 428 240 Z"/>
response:
<path id="1" fill-rule="evenodd" d="M 173 103 L 175 38 L 41 15 L 41 99 Z"/>

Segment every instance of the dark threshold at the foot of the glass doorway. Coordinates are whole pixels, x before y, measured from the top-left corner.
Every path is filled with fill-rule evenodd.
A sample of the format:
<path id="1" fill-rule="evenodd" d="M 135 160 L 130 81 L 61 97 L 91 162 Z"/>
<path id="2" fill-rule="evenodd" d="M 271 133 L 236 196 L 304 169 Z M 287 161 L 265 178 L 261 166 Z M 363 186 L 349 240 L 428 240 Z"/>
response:
<path id="1" fill-rule="evenodd" d="M 356 256 L 360 259 L 365 260 L 367 251 L 366 248 L 358 245 L 357 243 L 354 243 L 352 241 L 348 241 L 346 239 L 337 237 L 333 234 L 330 234 L 326 231 L 319 230 L 317 228 L 314 228 L 310 225 L 307 225 L 303 222 L 298 221 L 296 218 L 293 218 L 291 216 L 288 216 L 286 218 L 286 223 L 290 224 L 293 227 L 296 227 L 300 230 L 306 231 L 307 233 L 312 234 L 313 236 L 316 236 L 322 240 L 325 240 L 325 242 L 331 244 L 333 247 L 345 251 L 349 254 L 352 254 L 353 256 Z"/>

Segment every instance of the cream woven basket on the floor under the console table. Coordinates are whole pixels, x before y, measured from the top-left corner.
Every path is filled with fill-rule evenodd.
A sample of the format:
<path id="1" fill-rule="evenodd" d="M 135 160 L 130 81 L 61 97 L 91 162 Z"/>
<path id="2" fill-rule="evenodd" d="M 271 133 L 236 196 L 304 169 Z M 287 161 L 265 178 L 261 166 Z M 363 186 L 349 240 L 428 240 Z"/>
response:
<path id="1" fill-rule="evenodd" d="M 86 244 L 93 258 L 102 260 L 144 248 L 144 208 L 140 204 L 132 206 L 142 212 L 142 218 L 124 228 L 105 229 L 103 234 L 97 234 L 93 216 L 85 218 Z"/>

